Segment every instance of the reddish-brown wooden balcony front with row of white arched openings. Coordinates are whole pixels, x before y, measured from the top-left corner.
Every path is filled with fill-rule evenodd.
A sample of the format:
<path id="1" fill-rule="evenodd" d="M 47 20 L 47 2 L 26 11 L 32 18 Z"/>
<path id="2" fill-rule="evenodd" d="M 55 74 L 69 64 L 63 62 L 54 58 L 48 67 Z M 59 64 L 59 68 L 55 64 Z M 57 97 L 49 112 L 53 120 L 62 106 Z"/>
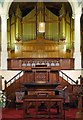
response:
<path id="1" fill-rule="evenodd" d="M 46 65 L 52 70 L 74 69 L 73 58 L 12 58 L 8 59 L 8 69 L 31 70 L 36 65 Z"/>

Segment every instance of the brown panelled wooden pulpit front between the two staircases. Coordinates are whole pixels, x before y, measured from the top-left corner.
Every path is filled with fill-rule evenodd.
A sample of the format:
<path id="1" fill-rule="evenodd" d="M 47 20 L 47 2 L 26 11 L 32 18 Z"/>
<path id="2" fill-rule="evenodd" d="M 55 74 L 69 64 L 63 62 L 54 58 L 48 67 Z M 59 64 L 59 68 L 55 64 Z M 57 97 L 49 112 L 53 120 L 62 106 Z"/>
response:
<path id="1" fill-rule="evenodd" d="M 24 83 L 58 83 L 59 71 L 50 67 L 34 67 L 24 71 L 23 79 Z"/>

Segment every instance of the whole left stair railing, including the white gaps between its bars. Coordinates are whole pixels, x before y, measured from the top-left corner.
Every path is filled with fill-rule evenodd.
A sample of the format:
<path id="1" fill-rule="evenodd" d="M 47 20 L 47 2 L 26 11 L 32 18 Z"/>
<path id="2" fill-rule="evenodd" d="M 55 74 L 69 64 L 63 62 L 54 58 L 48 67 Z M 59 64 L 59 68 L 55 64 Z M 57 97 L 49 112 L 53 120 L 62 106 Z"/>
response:
<path id="1" fill-rule="evenodd" d="M 5 80 L 5 89 L 10 86 L 12 83 L 14 83 L 17 79 L 19 79 L 22 76 L 22 72 L 20 71 L 18 74 L 16 74 L 13 78 L 11 78 L 10 80 L 6 81 Z"/>

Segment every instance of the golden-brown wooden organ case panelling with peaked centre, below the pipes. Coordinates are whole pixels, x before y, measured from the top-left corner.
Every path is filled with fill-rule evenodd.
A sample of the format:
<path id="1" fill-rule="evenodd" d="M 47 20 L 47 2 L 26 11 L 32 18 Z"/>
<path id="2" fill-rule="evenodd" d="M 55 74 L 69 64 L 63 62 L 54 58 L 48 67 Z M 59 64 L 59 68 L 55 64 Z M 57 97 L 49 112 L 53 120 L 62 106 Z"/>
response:
<path id="1" fill-rule="evenodd" d="M 10 58 L 72 58 L 72 50 L 66 51 L 65 41 L 53 41 L 40 36 L 27 42 L 16 42 Z"/>

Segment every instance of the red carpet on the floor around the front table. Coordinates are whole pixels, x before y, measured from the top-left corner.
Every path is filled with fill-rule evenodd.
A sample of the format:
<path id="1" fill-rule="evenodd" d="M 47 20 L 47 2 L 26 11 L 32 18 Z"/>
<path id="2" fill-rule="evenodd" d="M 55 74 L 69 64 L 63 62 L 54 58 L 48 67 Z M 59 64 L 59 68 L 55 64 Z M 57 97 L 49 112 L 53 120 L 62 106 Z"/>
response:
<path id="1" fill-rule="evenodd" d="M 75 120 L 77 109 L 71 108 L 65 110 L 64 118 L 27 118 L 23 119 L 23 110 L 16 110 L 12 108 L 5 108 L 2 111 L 2 120 Z M 33 114 L 33 113 L 32 113 Z M 64 110 L 63 110 L 64 115 Z"/>

